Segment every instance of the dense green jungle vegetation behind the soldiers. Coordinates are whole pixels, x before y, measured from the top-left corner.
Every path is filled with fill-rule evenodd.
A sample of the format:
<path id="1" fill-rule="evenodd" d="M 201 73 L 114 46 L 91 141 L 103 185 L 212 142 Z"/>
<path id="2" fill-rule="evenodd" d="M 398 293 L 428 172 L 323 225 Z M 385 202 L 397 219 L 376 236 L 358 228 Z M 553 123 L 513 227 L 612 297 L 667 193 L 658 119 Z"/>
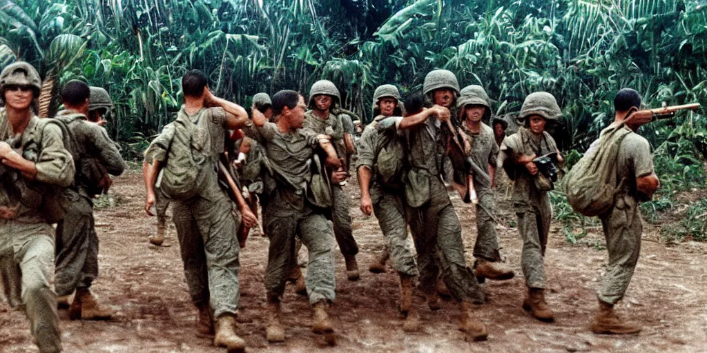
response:
<path id="1" fill-rule="evenodd" d="M 0 67 L 23 59 L 56 83 L 83 76 L 117 103 L 110 131 L 144 145 L 180 104 L 179 79 L 199 68 L 216 95 L 337 83 L 371 118 L 373 89 L 421 87 L 434 68 L 481 84 L 499 114 L 534 90 L 558 97 L 566 150 L 583 151 L 612 119 L 623 87 L 645 102 L 707 102 L 704 0 L 0 0 Z M 51 83 L 54 83 L 52 85 Z M 47 95 L 49 96 L 49 95 Z M 57 109 L 57 102 L 49 110 Z M 665 196 L 703 186 L 703 110 L 642 128 Z M 570 152 L 575 157 L 576 152 Z M 572 158 L 570 158 L 572 160 Z M 660 203 L 658 203 L 660 202 Z"/>

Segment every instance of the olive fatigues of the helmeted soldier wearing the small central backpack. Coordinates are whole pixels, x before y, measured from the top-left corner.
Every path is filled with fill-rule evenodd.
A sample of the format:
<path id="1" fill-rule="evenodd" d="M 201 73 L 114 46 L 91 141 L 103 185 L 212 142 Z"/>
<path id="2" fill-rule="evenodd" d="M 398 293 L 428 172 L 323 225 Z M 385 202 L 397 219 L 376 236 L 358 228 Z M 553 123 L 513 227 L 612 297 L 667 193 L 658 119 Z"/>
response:
<path id="1" fill-rule="evenodd" d="M 378 131 L 375 125 L 385 116 L 376 116 L 372 124 L 363 130 L 361 140 L 358 141 L 358 166 L 366 167 L 372 172 L 370 183 L 370 199 L 373 203 L 373 212 L 378 219 L 378 225 L 387 240 L 390 249 L 393 268 L 397 272 L 408 276 L 417 276 L 413 251 L 407 241 L 407 222 L 402 189 L 384 187 L 378 181 L 375 173 L 375 148 L 378 141 Z"/>

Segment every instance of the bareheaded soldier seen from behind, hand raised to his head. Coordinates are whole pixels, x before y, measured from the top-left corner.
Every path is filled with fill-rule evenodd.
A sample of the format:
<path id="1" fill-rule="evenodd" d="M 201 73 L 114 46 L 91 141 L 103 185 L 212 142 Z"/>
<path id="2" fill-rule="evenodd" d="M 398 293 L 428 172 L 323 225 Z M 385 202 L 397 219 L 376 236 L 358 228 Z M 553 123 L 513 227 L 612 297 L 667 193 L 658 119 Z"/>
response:
<path id="1" fill-rule="evenodd" d="M 187 71 L 182 76 L 182 92 L 185 104 L 177 119 L 165 126 L 145 151 L 145 210 L 151 215 L 154 186 L 162 169 L 160 189 L 173 203 L 185 277 L 199 309 L 199 330 L 214 332 L 213 316 L 214 345 L 242 352 L 245 342 L 234 330 L 240 294 L 239 246 L 234 237 L 238 222 L 233 203 L 218 186 L 215 170 L 224 150 L 226 129 L 241 128 L 250 120 L 243 107 L 214 97 L 201 71 Z M 254 226 L 255 215 L 240 192 L 234 194 L 243 222 Z"/>

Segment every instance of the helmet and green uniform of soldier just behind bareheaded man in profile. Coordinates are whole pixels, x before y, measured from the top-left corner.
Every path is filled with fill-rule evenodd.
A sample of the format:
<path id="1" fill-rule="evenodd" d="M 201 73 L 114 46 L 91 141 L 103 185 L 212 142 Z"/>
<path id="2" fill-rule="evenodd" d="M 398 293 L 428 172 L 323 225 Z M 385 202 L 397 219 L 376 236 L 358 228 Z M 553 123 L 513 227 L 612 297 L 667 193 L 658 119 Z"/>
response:
<path id="1" fill-rule="evenodd" d="M 351 118 L 347 114 L 336 114 L 339 110 L 341 97 L 334 83 L 327 80 L 317 81 L 310 90 L 309 107 L 314 107 L 315 95 L 327 94 L 333 97 L 332 107 L 329 109 L 329 117 L 321 119 L 310 111 L 305 114 L 304 130 L 313 134 L 326 134 L 332 136 L 332 143 L 337 149 L 340 157 L 346 155 L 344 150 L 344 133 L 353 133 L 354 124 L 349 124 Z M 348 122 L 344 123 L 344 121 Z M 348 158 L 347 158 L 348 160 Z M 339 249 L 344 256 L 355 256 L 358 253 L 358 244 L 354 239 L 354 227 L 351 220 L 351 209 L 349 206 L 349 193 L 339 185 L 332 185 L 332 223 L 334 225 L 334 237 L 337 239 Z"/>

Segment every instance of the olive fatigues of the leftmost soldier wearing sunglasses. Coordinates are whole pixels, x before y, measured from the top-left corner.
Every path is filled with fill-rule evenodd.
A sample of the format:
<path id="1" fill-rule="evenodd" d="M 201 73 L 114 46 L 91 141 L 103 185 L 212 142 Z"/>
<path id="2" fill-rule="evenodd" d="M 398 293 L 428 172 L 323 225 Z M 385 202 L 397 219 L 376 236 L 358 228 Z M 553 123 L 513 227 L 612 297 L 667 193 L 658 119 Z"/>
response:
<path id="1" fill-rule="evenodd" d="M 74 162 L 64 148 L 61 128 L 42 124 L 37 116 L 30 118 L 21 135 L 13 135 L 0 112 L 0 140 L 12 139 L 11 147 L 21 149 L 25 159 L 35 162 L 37 177 L 34 181 L 23 177 L 12 181 L 25 187 L 19 194 L 8 192 L 0 205 L 18 208 L 16 217 L 0 219 L 0 283 L 11 306 L 24 306 L 40 352 L 60 352 L 57 294 L 49 287 L 54 271 L 54 229 L 39 208 L 42 196 L 52 188 L 50 184 L 71 184 Z M 3 189 L 8 186 L 4 184 Z"/>

